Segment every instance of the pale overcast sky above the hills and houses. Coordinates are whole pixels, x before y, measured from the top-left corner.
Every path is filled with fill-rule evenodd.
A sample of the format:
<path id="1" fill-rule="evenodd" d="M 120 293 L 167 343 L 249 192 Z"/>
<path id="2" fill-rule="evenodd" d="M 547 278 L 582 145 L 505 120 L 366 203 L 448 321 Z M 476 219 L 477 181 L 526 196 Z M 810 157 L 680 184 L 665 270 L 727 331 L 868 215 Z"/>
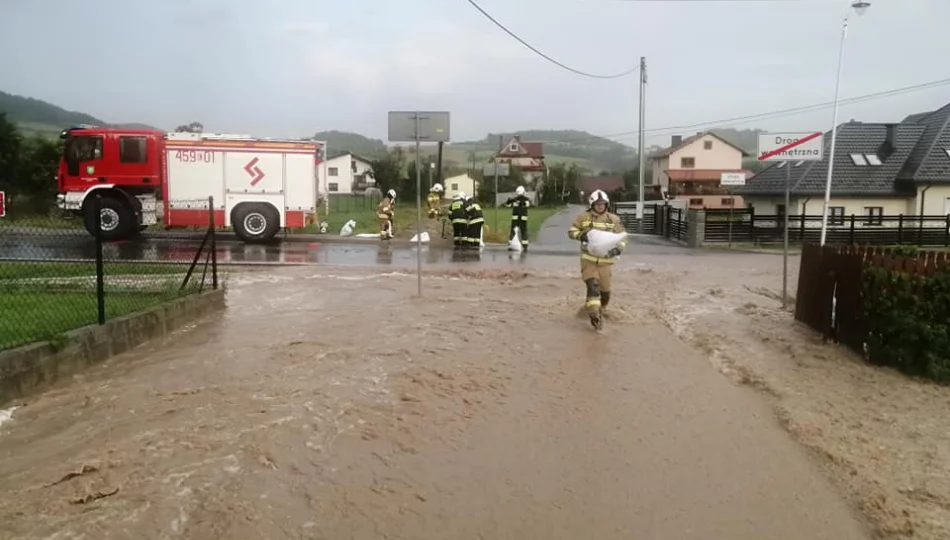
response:
<path id="1" fill-rule="evenodd" d="M 851 0 L 478 1 L 583 71 L 646 56 L 655 144 L 668 126 L 831 101 Z M 950 0 L 871 1 L 851 18 L 843 98 L 950 77 Z M 636 75 L 562 70 L 465 0 L 0 0 L 0 50 L 0 90 L 166 129 L 198 120 L 208 131 L 385 139 L 386 112 L 415 108 L 451 111 L 454 140 L 637 128 Z M 948 102 L 944 85 L 843 106 L 841 120 Z M 733 126 L 828 129 L 831 109 Z"/>

